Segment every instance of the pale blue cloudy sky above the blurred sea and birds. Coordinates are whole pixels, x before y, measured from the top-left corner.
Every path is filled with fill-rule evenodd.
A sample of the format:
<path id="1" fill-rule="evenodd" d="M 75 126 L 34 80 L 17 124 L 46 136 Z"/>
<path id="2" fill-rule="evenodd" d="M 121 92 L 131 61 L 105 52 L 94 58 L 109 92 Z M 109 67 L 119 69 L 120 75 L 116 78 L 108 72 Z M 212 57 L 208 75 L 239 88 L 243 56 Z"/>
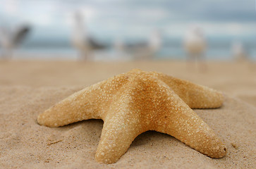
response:
<path id="1" fill-rule="evenodd" d="M 30 42 L 66 42 L 75 11 L 85 16 L 87 30 L 105 41 L 145 39 L 152 30 L 181 39 L 190 25 L 200 25 L 208 37 L 256 40 L 252 0 L 0 0 L 0 4 L 0 26 L 31 25 Z"/>

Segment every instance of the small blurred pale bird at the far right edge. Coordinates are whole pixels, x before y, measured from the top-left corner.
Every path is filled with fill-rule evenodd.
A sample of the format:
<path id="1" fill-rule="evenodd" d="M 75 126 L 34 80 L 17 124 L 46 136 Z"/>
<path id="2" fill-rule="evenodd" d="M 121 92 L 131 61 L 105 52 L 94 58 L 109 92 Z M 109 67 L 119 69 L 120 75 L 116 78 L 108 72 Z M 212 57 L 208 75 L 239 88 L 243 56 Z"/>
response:
<path id="1" fill-rule="evenodd" d="M 245 49 L 243 48 L 243 44 L 241 42 L 233 42 L 232 45 L 232 54 L 233 54 L 233 58 L 236 61 L 245 61 L 246 59 L 246 52 Z"/>

